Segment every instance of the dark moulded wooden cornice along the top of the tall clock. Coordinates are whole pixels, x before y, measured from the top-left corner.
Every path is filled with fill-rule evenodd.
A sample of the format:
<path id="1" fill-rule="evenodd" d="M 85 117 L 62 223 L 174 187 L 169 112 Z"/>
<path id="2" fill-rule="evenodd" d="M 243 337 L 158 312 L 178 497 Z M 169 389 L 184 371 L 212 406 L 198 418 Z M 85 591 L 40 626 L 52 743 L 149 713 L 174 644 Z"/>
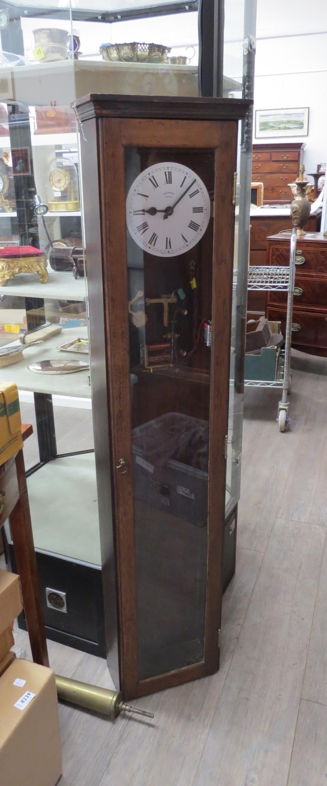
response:
<path id="1" fill-rule="evenodd" d="M 185 98 L 97 94 L 79 98 L 75 112 L 81 121 L 101 117 L 167 120 L 241 120 L 253 101 L 244 98 Z"/>

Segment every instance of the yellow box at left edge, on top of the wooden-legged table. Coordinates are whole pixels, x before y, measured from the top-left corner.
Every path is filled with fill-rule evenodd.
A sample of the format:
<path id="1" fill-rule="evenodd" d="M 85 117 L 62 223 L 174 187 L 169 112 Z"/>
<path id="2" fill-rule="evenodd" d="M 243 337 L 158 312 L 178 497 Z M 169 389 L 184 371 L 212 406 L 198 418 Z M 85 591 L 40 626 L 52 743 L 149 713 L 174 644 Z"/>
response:
<path id="1" fill-rule="evenodd" d="M 17 385 L 0 384 L 0 465 L 23 447 Z"/>

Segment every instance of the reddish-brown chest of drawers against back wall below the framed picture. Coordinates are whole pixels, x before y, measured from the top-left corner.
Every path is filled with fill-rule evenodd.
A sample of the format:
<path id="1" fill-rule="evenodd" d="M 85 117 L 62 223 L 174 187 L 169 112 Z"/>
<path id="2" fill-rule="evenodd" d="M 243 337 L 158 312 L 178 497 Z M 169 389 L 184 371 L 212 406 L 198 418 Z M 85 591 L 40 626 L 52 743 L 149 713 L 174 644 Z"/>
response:
<path id="1" fill-rule="evenodd" d="M 252 182 L 263 183 L 263 204 L 287 204 L 292 201 L 288 183 L 295 180 L 302 163 L 302 142 L 277 145 L 253 145 Z"/>

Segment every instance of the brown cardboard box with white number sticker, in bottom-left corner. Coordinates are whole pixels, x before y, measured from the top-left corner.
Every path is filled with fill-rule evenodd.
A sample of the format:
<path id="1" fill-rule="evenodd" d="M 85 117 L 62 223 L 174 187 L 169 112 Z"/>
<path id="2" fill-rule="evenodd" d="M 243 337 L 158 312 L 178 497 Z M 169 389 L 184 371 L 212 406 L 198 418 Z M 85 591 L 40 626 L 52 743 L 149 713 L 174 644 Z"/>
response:
<path id="1" fill-rule="evenodd" d="M 0 678 L 1 786 L 55 786 L 62 757 L 51 669 L 16 658 Z"/>

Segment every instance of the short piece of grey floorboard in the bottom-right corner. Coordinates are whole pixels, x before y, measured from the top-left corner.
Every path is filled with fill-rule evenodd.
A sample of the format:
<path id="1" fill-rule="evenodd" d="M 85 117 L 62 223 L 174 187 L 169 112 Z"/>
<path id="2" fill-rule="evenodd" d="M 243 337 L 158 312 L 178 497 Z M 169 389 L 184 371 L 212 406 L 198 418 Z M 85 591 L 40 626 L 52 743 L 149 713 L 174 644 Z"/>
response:
<path id="1" fill-rule="evenodd" d="M 324 786 L 326 740 L 327 707 L 301 700 L 288 786 Z"/>

